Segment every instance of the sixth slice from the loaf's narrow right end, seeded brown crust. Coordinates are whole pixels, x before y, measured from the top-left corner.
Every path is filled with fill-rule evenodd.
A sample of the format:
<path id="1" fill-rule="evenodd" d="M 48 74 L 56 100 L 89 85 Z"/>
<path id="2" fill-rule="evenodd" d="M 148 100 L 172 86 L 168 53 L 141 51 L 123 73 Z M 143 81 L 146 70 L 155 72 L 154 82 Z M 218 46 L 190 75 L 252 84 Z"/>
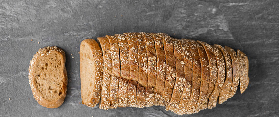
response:
<path id="1" fill-rule="evenodd" d="M 209 62 L 208 62 L 209 60 L 208 60 L 204 47 L 202 47 L 200 44 L 198 44 L 198 51 L 199 51 L 199 55 L 201 57 L 200 61 L 201 61 L 201 66 L 202 66 L 202 72 L 201 72 L 202 80 L 201 80 L 201 86 L 200 86 L 200 96 L 199 96 L 199 100 L 196 105 L 195 113 L 207 108 L 208 98 L 206 98 L 206 96 L 207 96 L 207 92 L 208 92 L 208 88 L 209 88 L 209 79 L 210 79 Z"/>

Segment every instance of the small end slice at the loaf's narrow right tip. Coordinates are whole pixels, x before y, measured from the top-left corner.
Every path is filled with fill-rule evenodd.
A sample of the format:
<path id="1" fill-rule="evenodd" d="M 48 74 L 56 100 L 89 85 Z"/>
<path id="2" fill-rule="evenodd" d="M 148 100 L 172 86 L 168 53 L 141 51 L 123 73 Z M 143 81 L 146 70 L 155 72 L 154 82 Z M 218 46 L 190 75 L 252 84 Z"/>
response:
<path id="1" fill-rule="evenodd" d="M 247 56 L 241 52 L 240 50 L 237 50 L 237 57 L 240 61 L 240 92 L 241 94 L 247 89 L 249 84 L 249 77 L 248 77 L 248 70 L 249 70 L 249 61 Z"/>

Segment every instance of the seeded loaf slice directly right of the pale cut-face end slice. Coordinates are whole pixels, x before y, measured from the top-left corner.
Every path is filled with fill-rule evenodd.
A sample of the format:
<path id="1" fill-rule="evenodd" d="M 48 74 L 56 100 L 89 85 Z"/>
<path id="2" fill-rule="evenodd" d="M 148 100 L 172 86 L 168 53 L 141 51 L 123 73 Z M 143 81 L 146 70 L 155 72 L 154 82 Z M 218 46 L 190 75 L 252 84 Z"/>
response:
<path id="1" fill-rule="evenodd" d="M 97 39 L 102 48 L 104 65 L 101 103 L 99 108 L 108 110 L 110 108 L 110 83 L 112 77 L 111 47 L 110 42 L 106 37 L 98 37 Z"/>

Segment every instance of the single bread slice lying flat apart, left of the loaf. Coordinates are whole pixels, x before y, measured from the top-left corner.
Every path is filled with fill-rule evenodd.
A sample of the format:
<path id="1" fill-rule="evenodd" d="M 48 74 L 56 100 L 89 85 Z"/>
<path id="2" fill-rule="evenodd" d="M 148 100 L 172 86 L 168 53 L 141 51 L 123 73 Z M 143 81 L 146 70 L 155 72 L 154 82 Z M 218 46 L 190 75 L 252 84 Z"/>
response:
<path id="1" fill-rule="evenodd" d="M 29 66 L 29 84 L 36 101 L 46 108 L 57 108 L 64 102 L 67 90 L 65 53 L 53 46 L 40 48 Z"/>

